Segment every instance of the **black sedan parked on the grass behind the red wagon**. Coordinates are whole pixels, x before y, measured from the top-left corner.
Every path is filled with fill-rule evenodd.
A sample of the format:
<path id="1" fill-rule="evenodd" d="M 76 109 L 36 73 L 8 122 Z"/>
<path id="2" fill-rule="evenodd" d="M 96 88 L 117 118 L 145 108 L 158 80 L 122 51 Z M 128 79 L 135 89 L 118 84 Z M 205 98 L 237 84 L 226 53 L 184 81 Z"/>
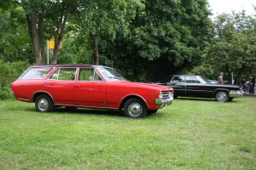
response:
<path id="1" fill-rule="evenodd" d="M 219 102 L 231 101 L 242 96 L 239 86 L 213 84 L 201 76 L 172 75 L 166 81 L 157 83 L 174 89 L 174 97 L 215 98 Z"/>

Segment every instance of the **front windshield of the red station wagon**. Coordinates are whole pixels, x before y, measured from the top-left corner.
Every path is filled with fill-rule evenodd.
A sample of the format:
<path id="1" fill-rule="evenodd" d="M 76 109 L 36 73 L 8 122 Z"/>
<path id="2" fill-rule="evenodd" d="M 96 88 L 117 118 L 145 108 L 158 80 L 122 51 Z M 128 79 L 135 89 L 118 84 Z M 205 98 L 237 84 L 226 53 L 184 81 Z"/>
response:
<path id="1" fill-rule="evenodd" d="M 109 67 L 97 67 L 98 71 L 102 74 L 102 76 L 105 78 L 107 81 L 120 81 L 120 80 L 125 80 L 127 81 L 124 77 L 119 75 L 119 73 L 113 68 Z"/>

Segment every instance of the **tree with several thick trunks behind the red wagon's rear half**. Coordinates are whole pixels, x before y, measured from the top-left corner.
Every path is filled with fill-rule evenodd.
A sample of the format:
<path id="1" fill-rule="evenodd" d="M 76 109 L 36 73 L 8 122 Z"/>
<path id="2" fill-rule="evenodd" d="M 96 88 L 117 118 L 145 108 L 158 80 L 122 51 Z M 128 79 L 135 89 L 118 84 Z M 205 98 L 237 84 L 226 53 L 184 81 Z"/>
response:
<path id="1" fill-rule="evenodd" d="M 15 3 L 23 8 L 37 65 L 44 63 L 44 47 L 46 40 L 55 37 L 55 48 L 51 62 L 55 64 L 57 62 L 58 49 L 67 24 L 67 17 L 69 14 L 77 11 L 79 1 L 9 0 L 3 1 L 3 3 Z"/>

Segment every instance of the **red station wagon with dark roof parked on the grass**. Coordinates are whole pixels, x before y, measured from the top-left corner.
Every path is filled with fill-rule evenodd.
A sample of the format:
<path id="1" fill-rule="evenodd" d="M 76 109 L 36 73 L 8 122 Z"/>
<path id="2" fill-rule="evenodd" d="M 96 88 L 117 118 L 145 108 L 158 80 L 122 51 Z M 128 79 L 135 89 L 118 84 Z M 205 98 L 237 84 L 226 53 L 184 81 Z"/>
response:
<path id="1" fill-rule="evenodd" d="M 130 82 L 102 65 L 34 65 L 12 83 L 15 98 L 34 102 L 37 111 L 57 106 L 123 110 L 140 118 L 172 104 L 173 89 Z"/>

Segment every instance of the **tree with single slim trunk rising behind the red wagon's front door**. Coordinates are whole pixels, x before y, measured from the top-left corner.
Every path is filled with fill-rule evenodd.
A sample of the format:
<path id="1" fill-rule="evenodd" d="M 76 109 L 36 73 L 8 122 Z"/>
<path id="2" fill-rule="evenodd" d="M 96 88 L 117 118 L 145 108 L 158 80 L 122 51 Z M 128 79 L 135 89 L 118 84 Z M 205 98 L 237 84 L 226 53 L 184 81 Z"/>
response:
<path id="1" fill-rule="evenodd" d="M 80 34 L 90 37 L 93 64 L 100 64 L 101 39 L 111 42 L 115 39 L 117 31 L 125 32 L 137 10 L 143 7 L 139 0 L 95 0 L 83 4 L 84 10 L 79 17 Z"/>

